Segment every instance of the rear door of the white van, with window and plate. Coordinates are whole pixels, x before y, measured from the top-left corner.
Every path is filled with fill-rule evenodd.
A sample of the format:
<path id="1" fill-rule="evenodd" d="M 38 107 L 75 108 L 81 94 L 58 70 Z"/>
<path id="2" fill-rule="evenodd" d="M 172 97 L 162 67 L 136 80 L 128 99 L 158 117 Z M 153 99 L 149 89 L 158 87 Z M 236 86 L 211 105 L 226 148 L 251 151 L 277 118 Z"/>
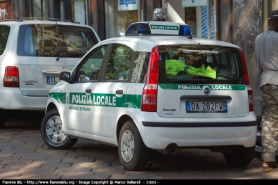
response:
<path id="1" fill-rule="evenodd" d="M 47 96 L 61 71 L 71 71 L 99 42 L 89 26 L 23 24 L 19 26 L 17 61 L 20 90 L 25 96 Z"/>

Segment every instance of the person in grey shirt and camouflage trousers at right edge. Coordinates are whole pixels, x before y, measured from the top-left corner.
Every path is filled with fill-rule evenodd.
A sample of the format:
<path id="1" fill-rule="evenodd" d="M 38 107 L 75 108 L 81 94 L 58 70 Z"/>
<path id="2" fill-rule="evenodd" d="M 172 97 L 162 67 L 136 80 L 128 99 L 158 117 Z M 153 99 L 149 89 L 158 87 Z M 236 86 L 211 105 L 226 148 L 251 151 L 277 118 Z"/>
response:
<path id="1" fill-rule="evenodd" d="M 277 168 L 278 147 L 278 10 L 268 15 L 268 30 L 257 35 L 255 57 L 261 74 L 261 145 L 265 172 Z"/>

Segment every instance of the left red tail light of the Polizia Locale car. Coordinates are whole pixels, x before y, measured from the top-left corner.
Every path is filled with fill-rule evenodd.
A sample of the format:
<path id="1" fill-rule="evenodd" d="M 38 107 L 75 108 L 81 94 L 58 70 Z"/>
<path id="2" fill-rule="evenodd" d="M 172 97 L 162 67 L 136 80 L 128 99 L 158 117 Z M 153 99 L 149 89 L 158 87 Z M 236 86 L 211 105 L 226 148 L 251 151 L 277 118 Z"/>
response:
<path id="1" fill-rule="evenodd" d="M 154 47 L 149 58 L 147 81 L 142 93 L 141 111 L 156 112 L 158 89 L 158 47 Z"/>

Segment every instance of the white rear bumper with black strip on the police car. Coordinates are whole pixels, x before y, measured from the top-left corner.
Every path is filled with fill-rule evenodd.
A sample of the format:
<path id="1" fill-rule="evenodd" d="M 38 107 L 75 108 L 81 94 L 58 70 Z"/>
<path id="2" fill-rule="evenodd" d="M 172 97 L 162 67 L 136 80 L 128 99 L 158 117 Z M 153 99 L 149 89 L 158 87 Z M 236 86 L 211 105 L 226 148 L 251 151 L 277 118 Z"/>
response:
<path id="1" fill-rule="evenodd" d="M 145 145 L 152 149 L 162 150 L 170 144 L 177 144 L 179 147 L 224 145 L 252 147 L 256 143 L 257 122 L 254 112 L 246 117 L 217 118 L 217 120 L 161 118 L 156 113 L 140 112 L 133 120 L 138 123 Z"/>

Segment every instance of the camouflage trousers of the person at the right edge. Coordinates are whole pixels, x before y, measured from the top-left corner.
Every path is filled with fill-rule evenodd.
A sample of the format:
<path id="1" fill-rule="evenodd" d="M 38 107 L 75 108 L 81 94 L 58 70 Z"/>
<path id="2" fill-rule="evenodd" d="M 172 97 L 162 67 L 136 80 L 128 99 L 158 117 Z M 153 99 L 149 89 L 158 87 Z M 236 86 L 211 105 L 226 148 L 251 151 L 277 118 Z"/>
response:
<path id="1" fill-rule="evenodd" d="M 278 148 L 278 86 L 268 84 L 261 90 L 261 155 L 265 162 L 272 162 Z"/>

